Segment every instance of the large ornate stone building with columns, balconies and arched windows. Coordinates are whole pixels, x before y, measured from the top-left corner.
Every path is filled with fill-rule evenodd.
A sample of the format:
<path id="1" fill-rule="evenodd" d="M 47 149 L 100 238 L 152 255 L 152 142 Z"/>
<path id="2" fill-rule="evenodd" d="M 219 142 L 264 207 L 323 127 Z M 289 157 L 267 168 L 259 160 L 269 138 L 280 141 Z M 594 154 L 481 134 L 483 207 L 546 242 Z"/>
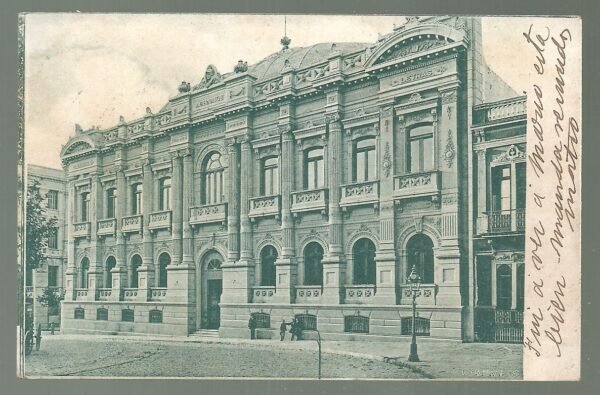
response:
<path id="1" fill-rule="evenodd" d="M 474 339 L 472 109 L 515 93 L 478 19 L 209 66 L 157 113 L 64 146 L 66 332 Z M 520 148 L 519 148 L 520 149 Z M 520 151 L 519 151 L 520 152 Z M 470 236 L 471 235 L 471 236 Z"/>

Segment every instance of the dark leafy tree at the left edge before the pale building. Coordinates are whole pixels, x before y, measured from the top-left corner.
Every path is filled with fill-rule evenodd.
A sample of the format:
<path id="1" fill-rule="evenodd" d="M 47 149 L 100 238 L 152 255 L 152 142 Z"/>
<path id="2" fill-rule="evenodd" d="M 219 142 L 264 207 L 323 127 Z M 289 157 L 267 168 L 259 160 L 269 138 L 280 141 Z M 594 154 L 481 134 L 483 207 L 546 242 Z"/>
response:
<path id="1" fill-rule="evenodd" d="M 37 269 L 46 261 L 47 240 L 56 231 L 56 218 L 46 215 L 44 197 L 40 193 L 40 182 L 32 180 L 27 187 L 25 226 L 25 265 L 27 273 Z"/>

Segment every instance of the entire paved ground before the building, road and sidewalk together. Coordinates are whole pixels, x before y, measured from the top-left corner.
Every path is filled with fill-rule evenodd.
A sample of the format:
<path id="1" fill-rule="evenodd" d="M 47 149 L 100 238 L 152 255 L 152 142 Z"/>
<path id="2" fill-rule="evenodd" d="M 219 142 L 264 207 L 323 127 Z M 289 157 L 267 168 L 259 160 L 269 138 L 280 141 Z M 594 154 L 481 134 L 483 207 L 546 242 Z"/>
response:
<path id="1" fill-rule="evenodd" d="M 522 377 L 522 346 L 419 338 L 422 362 L 406 362 L 410 339 L 323 341 L 323 378 L 485 379 Z M 25 374 L 116 377 L 317 378 L 314 341 L 163 336 L 46 335 Z"/>

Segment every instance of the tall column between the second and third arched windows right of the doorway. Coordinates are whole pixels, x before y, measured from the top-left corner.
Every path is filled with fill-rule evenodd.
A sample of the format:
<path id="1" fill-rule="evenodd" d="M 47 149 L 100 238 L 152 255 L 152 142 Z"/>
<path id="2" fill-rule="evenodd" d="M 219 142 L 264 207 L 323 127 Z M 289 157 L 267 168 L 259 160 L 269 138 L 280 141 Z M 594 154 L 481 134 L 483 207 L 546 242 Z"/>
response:
<path id="1" fill-rule="evenodd" d="M 323 303 L 340 303 L 344 283 L 344 251 L 340 185 L 344 174 L 342 158 L 342 124 L 339 113 L 325 117 L 329 130 L 327 174 L 329 187 L 329 253 L 323 258 Z"/>

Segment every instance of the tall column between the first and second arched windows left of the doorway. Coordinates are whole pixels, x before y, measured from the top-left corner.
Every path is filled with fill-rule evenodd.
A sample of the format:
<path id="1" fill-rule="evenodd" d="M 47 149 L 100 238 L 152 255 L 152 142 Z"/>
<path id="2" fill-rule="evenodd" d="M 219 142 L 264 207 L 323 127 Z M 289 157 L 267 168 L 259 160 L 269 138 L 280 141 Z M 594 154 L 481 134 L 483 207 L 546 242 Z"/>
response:
<path id="1" fill-rule="evenodd" d="M 150 159 L 144 161 L 142 168 L 142 265 L 138 268 L 138 299 L 141 301 L 148 300 L 148 294 L 152 286 L 154 286 L 154 262 L 153 262 L 153 247 L 152 233 L 150 232 L 150 215 L 152 214 L 153 201 L 153 174 L 150 166 Z M 135 273 L 132 273 L 135 275 Z"/>

